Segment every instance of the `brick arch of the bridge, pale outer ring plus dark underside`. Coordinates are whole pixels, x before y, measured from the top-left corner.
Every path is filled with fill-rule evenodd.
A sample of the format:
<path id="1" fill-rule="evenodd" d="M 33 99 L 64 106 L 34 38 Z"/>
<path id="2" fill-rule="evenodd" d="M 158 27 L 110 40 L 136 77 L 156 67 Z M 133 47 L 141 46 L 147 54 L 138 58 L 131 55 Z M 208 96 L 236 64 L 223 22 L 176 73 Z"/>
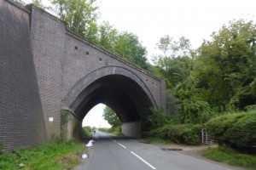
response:
<path id="1" fill-rule="evenodd" d="M 90 72 L 69 90 L 62 102 L 79 120 L 99 103 L 113 108 L 123 122 L 137 121 L 146 114 L 143 112 L 148 111 L 148 106 L 157 107 L 143 80 L 120 66 L 105 66 Z"/>

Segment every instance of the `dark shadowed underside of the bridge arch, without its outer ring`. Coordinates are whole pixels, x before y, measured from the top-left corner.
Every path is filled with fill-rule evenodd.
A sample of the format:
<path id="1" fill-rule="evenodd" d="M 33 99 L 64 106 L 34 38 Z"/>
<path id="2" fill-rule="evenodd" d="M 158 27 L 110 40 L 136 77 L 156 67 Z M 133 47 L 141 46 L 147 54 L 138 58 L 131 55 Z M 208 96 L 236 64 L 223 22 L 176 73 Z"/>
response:
<path id="1" fill-rule="evenodd" d="M 122 123 L 137 122 L 148 116 L 153 104 L 143 89 L 129 77 L 110 75 L 92 82 L 70 105 L 79 120 L 98 104 L 108 105 Z"/>

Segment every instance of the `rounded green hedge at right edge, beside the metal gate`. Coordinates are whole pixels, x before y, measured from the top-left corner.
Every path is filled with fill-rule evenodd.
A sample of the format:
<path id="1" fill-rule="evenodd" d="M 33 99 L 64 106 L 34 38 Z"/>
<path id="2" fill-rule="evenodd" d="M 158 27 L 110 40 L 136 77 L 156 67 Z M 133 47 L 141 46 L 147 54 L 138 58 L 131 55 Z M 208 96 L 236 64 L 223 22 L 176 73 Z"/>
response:
<path id="1" fill-rule="evenodd" d="M 218 116 L 206 123 L 207 132 L 221 145 L 256 152 L 256 109 Z"/>

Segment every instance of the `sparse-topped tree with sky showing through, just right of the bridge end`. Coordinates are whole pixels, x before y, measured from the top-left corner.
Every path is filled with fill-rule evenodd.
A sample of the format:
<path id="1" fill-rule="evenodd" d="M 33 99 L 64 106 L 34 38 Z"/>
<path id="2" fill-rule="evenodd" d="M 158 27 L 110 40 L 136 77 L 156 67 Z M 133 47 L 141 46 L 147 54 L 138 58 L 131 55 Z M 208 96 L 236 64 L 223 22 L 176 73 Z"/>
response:
<path id="1" fill-rule="evenodd" d="M 159 68 L 161 77 L 166 78 L 174 88 L 189 77 L 193 68 L 194 50 L 189 39 L 180 37 L 174 41 L 168 35 L 160 38 L 157 48 L 160 54 L 154 56 L 154 65 Z"/>

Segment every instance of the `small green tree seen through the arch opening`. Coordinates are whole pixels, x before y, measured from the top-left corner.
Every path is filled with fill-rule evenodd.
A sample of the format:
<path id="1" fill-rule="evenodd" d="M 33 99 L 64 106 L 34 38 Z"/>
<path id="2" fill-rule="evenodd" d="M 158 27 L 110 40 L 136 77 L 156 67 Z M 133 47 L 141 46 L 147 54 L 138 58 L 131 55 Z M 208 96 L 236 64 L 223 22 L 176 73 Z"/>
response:
<path id="1" fill-rule="evenodd" d="M 103 115 L 104 119 L 108 121 L 108 123 L 112 127 L 118 127 L 121 125 L 121 122 L 119 121 L 119 117 L 115 114 L 115 112 L 108 106 L 105 107 Z"/>

